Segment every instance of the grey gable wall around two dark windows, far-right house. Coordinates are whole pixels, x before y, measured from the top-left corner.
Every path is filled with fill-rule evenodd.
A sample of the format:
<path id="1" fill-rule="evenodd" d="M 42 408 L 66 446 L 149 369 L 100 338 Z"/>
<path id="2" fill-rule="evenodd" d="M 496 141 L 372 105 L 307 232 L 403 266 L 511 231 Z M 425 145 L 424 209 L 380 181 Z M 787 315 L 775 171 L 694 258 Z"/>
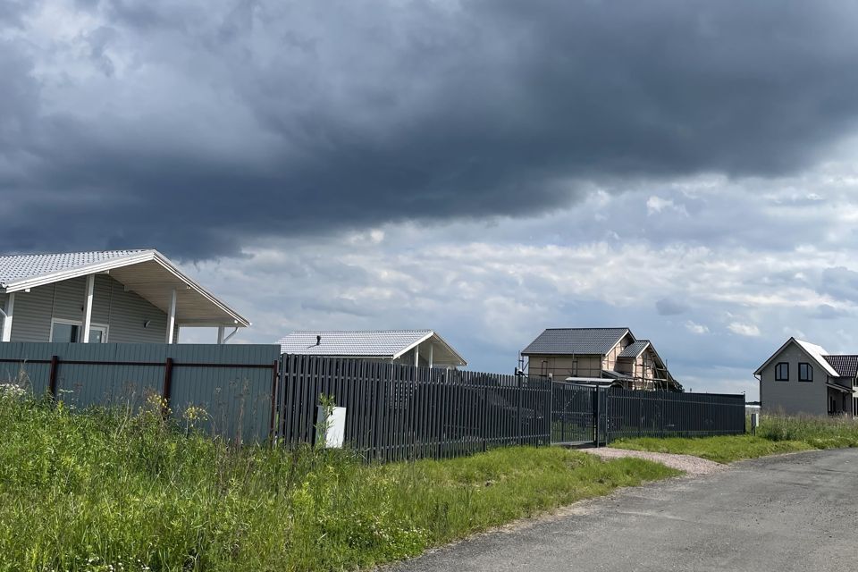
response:
<path id="1" fill-rule="evenodd" d="M 789 381 L 775 381 L 775 366 L 778 363 L 789 364 Z M 798 364 L 807 363 L 813 367 L 813 381 L 798 381 Z M 760 400 L 766 413 L 782 412 L 787 415 L 827 415 L 828 414 L 828 372 L 812 357 L 804 353 L 797 344 L 791 343 L 784 348 L 761 371 Z"/>

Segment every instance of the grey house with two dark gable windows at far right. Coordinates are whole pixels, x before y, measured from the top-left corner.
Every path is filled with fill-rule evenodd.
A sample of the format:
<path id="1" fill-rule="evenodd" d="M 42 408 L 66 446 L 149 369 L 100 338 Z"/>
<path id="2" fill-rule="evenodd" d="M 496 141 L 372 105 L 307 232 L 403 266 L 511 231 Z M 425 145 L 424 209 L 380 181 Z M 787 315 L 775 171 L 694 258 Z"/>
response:
<path id="1" fill-rule="evenodd" d="M 858 411 L 858 356 L 790 338 L 753 374 L 763 411 L 849 417 Z"/>

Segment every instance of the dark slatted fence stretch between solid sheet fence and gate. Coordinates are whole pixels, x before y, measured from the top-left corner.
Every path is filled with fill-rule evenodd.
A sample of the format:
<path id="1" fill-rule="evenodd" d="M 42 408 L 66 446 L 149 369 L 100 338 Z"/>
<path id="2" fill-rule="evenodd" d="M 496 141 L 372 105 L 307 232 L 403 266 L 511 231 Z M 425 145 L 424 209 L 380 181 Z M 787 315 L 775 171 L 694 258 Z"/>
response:
<path id="1" fill-rule="evenodd" d="M 346 408 L 366 458 L 445 458 L 550 442 L 551 382 L 514 375 L 284 356 L 277 438 L 313 442 L 320 396 Z"/>

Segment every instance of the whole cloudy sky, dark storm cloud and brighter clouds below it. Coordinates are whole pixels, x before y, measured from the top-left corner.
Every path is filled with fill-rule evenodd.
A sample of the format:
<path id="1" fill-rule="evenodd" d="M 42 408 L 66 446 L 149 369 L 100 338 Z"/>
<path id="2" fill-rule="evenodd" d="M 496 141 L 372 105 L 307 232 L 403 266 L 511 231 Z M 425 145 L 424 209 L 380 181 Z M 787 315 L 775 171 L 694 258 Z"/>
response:
<path id="1" fill-rule="evenodd" d="M 820 0 L 4 0 L 0 249 L 158 248 L 240 341 L 428 327 L 509 372 L 545 327 L 628 326 L 756 398 L 790 335 L 858 353 L 856 27 Z"/>

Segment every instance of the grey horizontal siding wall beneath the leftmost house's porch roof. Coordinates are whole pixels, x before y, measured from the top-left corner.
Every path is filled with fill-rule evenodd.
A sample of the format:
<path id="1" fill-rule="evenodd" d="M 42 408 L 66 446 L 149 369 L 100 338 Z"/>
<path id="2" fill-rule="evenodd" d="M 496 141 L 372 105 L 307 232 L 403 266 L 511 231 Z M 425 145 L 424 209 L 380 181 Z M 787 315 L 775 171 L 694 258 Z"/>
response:
<path id="1" fill-rule="evenodd" d="M 86 288 L 80 277 L 15 293 L 12 341 L 49 341 L 53 318 L 82 322 Z M 92 323 L 107 326 L 107 341 L 164 343 L 167 315 L 108 274 L 96 276 L 92 302 Z"/>

